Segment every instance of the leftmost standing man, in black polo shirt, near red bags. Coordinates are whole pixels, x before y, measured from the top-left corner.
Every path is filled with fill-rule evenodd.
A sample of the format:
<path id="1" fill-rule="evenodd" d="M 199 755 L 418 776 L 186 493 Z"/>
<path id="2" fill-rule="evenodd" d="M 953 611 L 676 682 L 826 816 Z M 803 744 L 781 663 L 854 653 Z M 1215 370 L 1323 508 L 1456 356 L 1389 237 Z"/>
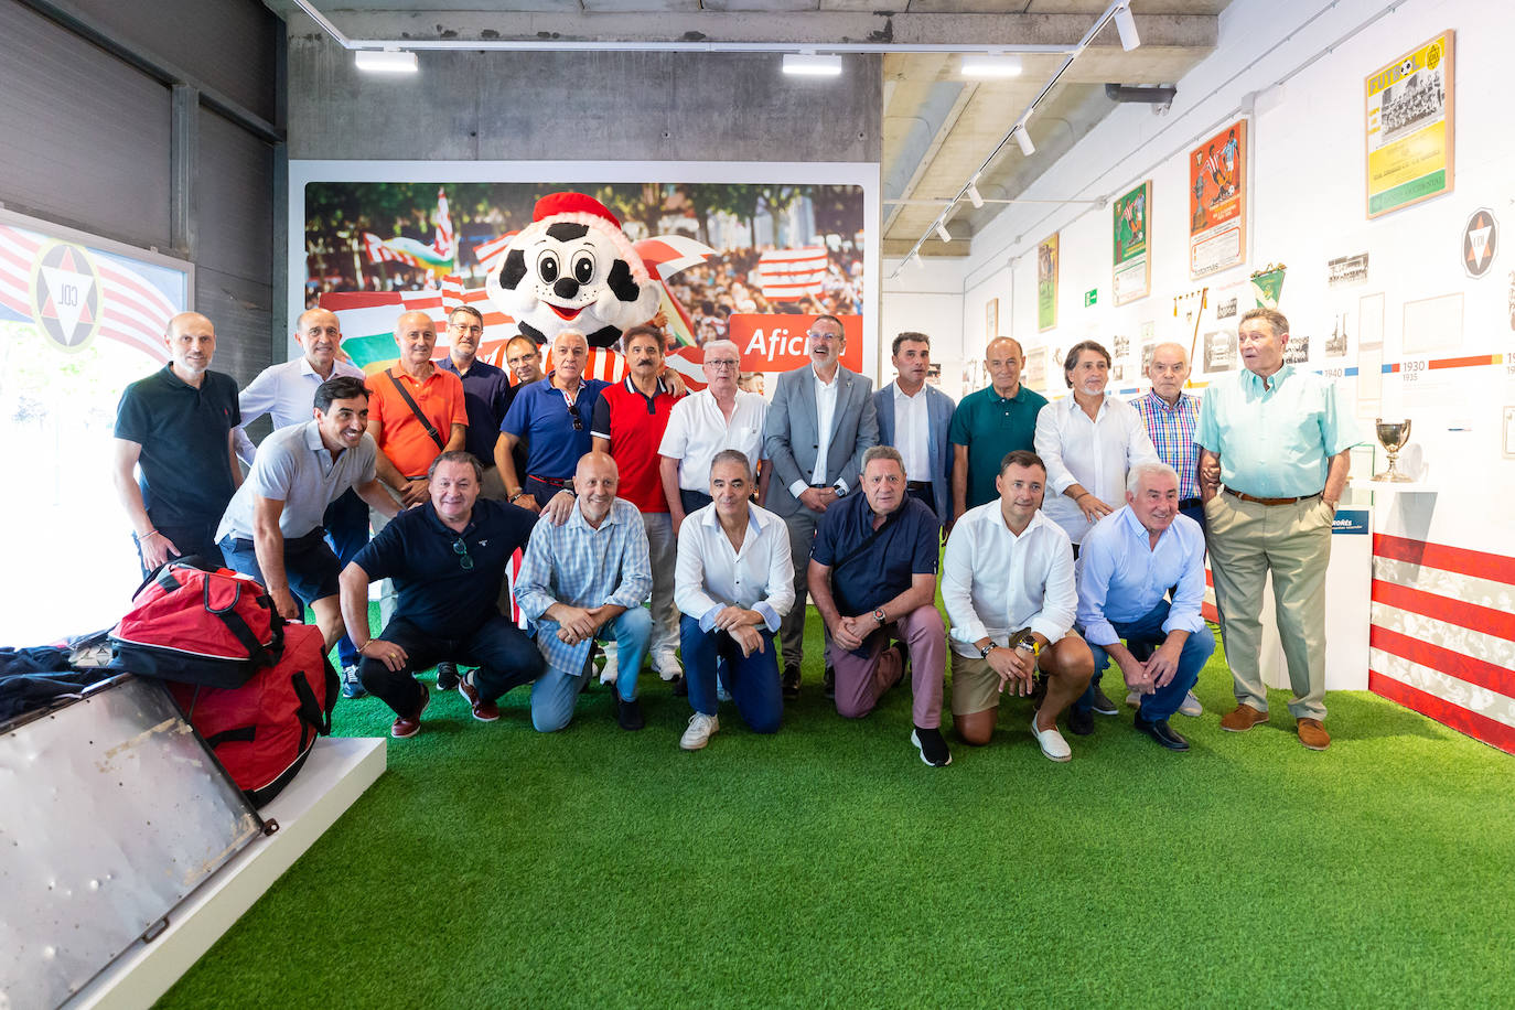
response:
<path id="1" fill-rule="evenodd" d="M 144 575 L 170 557 L 220 562 L 215 527 L 242 483 L 232 441 L 242 422 L 236 380 L 211 371 L 215 326 L 180 312 L 164 341 L 170 363 L 127 386 L 115 409 L 112 479 Z"/>

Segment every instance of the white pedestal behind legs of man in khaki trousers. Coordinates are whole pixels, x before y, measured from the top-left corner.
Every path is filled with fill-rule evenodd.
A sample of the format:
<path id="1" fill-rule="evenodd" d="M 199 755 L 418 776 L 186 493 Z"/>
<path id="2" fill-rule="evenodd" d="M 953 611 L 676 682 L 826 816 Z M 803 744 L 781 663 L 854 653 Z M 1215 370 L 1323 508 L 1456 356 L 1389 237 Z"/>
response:
<path id="1" fill-rule="evenodd" d="M 1332 530 L 1326 568 L 1326 690 L 1368 689 L 1373 595 L 1373 510 L 1344 507 Z M 1289 665 L 1274 619 L 1273 580 L 1262 594 L 1262 681 L 1289 687 Z"/>

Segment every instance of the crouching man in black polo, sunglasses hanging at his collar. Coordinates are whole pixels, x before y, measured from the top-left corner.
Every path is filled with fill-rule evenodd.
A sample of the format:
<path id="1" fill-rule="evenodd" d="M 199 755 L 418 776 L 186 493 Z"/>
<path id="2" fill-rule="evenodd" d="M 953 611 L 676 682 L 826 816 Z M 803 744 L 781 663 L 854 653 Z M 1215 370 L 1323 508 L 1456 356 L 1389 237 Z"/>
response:
<path id="1" fill-rule="evenodd" d="M 479 497 L 482 468 L 465 451 L 432 462 L 432 500 L 406 509 L 342 569 L 342 619 L 364 657 L 358 675 L 394 709 L 389 734 L 415 736 L 432 695 L 412 675 L 438 660 L 477 669 L 458 683 L 480 722 L 495 701 L 542 672 L 542 656 L 497 606 L 504 566 L 532 536 L 536 516 Z M 394 618 L 368 637 L 368 583 L 392 578 Z"/>

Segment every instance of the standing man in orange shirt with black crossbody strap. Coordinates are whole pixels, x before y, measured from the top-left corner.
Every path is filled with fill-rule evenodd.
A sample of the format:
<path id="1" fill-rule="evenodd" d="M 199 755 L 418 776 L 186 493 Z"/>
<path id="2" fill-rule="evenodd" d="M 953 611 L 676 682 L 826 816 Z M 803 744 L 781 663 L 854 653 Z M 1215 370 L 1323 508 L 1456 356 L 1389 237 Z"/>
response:
<path id="1" fill-rule="evenodd" d="M 464 383 L 450 371 L 432 363 L 436 324 L 424 312 L 405 312 L 395 320 L 394 342 L 400 359 L 368 377 L 368 433 L 379 445 L 374 460 L 379 480 L 400 506 L 409 509 L 430 500 L 426 472 L 442 453 L 464 447 L 468 410 Z M 373 512 L 374 535 L 389 524 Z M 383 624 L 394 616 L 395 592 L 386 578 L 379 595 Z"/>

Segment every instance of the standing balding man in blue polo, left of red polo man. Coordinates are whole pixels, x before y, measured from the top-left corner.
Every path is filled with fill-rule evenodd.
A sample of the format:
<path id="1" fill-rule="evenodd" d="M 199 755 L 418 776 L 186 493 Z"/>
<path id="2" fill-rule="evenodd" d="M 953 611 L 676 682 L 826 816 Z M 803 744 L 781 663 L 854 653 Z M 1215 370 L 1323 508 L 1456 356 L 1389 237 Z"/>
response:
<path id="1" fill-rule="evenodd" d="M 494 462 L 504 482 L 506 501 L 564 522 L 573 512 L 573 475 L 579 459 L 594 445 L 589 429 L 600 391 L 611 383 L 585 379 L 589 342 L 579 330 L 562 330 L 553 341 L 553 371 L 515 394 L 500 422 Z M 511 453 L 527 442 L 526 472 L 515 472 Z"/>

